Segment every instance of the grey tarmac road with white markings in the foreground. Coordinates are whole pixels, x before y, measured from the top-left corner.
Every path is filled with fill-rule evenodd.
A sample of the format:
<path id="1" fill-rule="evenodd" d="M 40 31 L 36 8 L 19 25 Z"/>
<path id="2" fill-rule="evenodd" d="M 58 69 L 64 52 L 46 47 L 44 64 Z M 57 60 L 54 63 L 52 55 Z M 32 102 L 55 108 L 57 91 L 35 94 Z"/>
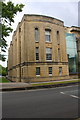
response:
<path id="1" fill-rule="evenodd" d="M 78 85 L 2 93 L 3 118 L 77 118 Z"/>

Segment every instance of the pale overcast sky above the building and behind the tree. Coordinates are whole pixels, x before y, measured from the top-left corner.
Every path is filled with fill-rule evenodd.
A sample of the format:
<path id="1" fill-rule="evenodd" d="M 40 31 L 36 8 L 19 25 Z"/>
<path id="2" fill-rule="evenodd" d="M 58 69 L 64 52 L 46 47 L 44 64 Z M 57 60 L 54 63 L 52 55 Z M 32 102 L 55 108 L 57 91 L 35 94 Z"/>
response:
<path id="1" fill-rule="evenodd" d="M 8 0 L 6 0 L 8 1 Z M 24 14 L 47 15 L 64 21 L 65 26 L 78 26 L 78 1 L 79 0 L 11 0 L 15 4 L 23 3 L 25 7 L 21 13 L 15 16 L 15 23 L 12 27 L 15 31 L 18 22 L 21 21 Z M 7 37 L 8 47 L 12 40 L 12 34 Z M 8 55 L 8 52 L 6 52 Z M 7 60 L 6 60 L 7 61 Z M 7 66 L 7 62 L 0 62 Z"/>

